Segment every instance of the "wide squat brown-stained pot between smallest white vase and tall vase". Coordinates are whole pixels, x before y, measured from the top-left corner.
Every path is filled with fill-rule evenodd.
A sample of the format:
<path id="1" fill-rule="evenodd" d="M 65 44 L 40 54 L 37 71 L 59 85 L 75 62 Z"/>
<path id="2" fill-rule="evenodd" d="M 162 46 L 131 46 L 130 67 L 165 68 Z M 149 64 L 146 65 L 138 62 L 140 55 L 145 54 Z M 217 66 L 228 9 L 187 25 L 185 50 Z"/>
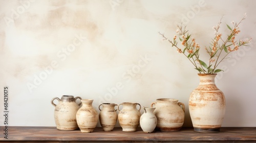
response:
<path id="1" fill-rule="evenodd" d="M 177 99 L 157 99 L 154 111 L 157 117 L 156 130 L 179 131 L 182 128 L 185 118 L 185 106 Z M 181 107 L 182 105 L 182 107 Z"/>

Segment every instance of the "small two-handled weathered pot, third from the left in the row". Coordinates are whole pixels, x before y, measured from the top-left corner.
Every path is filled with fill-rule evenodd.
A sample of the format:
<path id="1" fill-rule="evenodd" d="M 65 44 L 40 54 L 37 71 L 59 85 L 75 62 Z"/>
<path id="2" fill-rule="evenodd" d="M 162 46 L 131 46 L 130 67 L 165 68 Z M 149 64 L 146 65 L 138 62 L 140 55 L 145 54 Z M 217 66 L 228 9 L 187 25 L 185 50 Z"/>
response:
<path id="1" fill-rule="evenodd" d="M 102 109 L 100 107 L 102 106 Z M 117 122 L 117 113 L 115 109 L 117 104 L 102 103 L 99 105 L 99 123 L 103 128 L 103 131 L 113 131 Z"/>

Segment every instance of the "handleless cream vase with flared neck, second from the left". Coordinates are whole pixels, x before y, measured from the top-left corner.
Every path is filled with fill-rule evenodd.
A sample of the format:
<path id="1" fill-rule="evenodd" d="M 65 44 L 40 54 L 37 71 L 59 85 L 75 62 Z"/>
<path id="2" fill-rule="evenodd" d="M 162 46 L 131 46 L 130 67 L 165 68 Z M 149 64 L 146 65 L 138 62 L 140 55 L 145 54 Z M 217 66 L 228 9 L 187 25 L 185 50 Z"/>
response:
<path id="1" fill-rule="evenodd" d="M 82 133 L 93 132 L 99 121 L 98 112 L 92 106 L 92 99 L 83 99 L 81 102 L 82 107 L 76 113 L 77 125 Z"/>

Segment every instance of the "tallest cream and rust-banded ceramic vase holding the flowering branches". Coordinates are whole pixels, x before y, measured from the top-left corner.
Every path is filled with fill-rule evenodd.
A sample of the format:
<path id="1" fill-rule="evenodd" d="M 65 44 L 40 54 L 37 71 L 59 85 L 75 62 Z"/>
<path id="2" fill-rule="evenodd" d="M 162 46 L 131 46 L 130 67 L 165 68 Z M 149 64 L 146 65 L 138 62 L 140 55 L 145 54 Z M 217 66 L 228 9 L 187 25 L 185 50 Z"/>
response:
<path id="1" fill-rule="evenodd" d="M 196 132 L 219 132 L 225 97 L 215 84 L 217 74 L 198 74 L 200 83 L 189 97 L 189 114 Z"/>

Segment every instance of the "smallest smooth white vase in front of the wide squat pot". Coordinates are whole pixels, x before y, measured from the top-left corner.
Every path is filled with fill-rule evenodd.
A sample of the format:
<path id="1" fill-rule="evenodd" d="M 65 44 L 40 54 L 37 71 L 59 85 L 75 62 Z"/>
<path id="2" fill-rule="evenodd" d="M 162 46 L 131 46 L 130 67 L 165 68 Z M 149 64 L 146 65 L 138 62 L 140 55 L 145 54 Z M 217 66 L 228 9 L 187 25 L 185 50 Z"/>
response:
<path id="1" fill-rule="evenodd" d="M 152 133 L 157 126 L 157 117 L 153 107 L 144 107 L 144 113 L 140 116 L 140 127 L 145 133 Z"/>

